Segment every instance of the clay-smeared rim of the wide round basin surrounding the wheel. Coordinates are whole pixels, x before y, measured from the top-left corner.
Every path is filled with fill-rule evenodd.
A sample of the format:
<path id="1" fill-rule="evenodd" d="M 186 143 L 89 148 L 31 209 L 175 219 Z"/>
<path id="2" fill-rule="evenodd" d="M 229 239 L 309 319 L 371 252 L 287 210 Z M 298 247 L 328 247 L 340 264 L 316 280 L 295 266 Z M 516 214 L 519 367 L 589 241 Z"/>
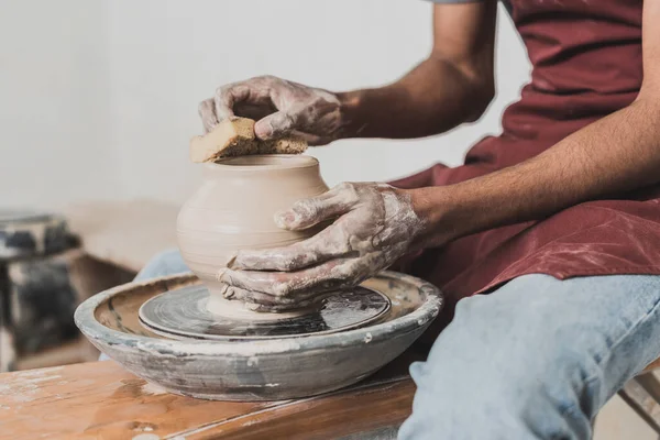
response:
<path id="1" fill-rule="evenodd" d="M 438 316 L 444 305 L 444 296 L 436 286 L 424 279 L 411 275 L 400 274 L 391 271 L 383 271 L 376 277 L 388 277 L 403 280 L 424 292 L 426 300 L 417 309 L 392 321 L 382 322 L 371 327 L 362 327 L 345 332 L 322 334 L 322 336 L 301 336 L 299 338 L 286 338 L 282 340 L 228 340 L 228 341 L 188 341 L 160 339 L 140 334 L 133 334 L 113 330 L 100 323 L 95 316 L 97 307 L 110 297 L 124 293 L 130 289 L 140 289 L 150 285 L 163 285 L 167 288 L 168 283 L 182 285 L 196 284 L 198 279 L 193 273 L 170 275 L 167 277 L 150 279 L 142 283 L 128 283 L 111 289 L 101 292 L 78 306 L 74 315 L 76 326 L 80 331 L 97 346 L 114 346 L 129 351 L 142 351 L 145 354 L 157 352 L 160 356 L 179 358 L 217 358 L 234 356 L 243 358 L 246 355 L 258 354 L 286 354 L 290 352 L 301 352 L 310 350 L 328 350 L 332 348 L 343 348 L 355 343 L 377 344 L 386 343 L 393 338 L 405 337 L 410 332 L 426 329 Z M 189 283 L 188 283 L 189 282 Z M 188 283 L 188 284 L 184 284 Z M 199 282 L 200 283 L 200 282 Z"/>

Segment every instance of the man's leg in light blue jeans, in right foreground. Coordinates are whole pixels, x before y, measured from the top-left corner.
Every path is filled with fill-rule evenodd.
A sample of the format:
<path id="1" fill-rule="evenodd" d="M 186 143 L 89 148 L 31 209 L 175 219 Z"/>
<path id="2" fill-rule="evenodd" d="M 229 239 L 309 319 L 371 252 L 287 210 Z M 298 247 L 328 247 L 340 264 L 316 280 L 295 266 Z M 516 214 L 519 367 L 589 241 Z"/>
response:
<path id="1" fill-rule="evenodd" d="M 660 276 L 526 275 L 459 301 L 410 367 L 399 439 L 588 439 L 623 384 L 660 355 Z"/>

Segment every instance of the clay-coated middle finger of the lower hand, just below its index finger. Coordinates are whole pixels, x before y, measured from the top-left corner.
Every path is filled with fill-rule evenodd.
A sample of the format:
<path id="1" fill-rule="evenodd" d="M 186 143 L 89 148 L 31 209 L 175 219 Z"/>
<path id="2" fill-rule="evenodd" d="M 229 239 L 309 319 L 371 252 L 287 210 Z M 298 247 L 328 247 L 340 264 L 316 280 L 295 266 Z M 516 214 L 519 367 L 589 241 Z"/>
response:
<path id="1" fill-rule="evenodd" d="M 220 282 L 232 287 L 277 297 L 297 297 L 355 285 L 361 274 L 352 273 L 354 258 L 338 258 L 298 272 L 226 270 Z M 359 280 L 358 280 L 359 283 Z"/>

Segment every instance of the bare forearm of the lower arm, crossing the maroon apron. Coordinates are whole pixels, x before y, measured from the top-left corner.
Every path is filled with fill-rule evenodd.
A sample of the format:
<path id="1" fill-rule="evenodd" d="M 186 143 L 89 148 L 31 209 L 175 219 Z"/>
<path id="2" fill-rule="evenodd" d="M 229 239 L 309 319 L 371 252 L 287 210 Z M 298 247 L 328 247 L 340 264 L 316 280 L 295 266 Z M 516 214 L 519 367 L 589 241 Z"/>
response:
<path id="1" fill-rule="evenodd" d="M 461 184 L 411 191 L 428 219 L 426 244 L 538 220 L 573 205 L 660 182 L 660 105 L 631 106 L 542 154 Z"/>

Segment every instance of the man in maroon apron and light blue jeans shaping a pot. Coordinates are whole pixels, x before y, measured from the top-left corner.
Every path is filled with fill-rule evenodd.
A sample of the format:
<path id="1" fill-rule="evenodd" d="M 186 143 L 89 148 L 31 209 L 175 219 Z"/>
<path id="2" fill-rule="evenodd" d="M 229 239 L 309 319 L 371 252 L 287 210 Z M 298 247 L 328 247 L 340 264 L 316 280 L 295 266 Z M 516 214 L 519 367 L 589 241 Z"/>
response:
<path id="1" fill-rule="evenodd" d="M 228 296 L 271 309 L 404 256 L 441 287 L 455 315 L 410 369 L 402 439 L 587 439 L 605 402 L 660 356 L 660 1 L 507 7 L 534 72 L 502 135 L 457 168 L 302 200 L 278 224 L 337 220 L 306 242 L 241 252 L 222 275 Z M 389 86 L 253 78 L 200 105 L 205 128 L 249 116 L 258 138 L 326 144 L 474 121 L 495 90 L 496 2 L 446 0 L 433 16 L 431 54 Z M 145 274 L 162 264 L 184 268 L 168 255 Z"/>

